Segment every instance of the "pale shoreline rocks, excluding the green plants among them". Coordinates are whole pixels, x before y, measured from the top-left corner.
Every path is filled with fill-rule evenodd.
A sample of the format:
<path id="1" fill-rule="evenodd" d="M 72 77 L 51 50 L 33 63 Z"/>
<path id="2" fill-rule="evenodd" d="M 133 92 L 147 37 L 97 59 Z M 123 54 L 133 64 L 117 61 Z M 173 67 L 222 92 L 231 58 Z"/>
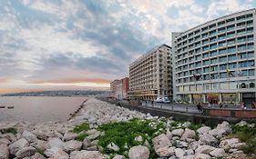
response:
<path id="1" fill-rule="evenodd" d="M 107 159 L 110 156 L 102 153 L 102 147 L 98 145 L 97 140 L 104 132 L 99 132 L 97 125 L 128 121 L 135 117 L 141 120 L 160 120 L 159 117 L 149 114 L 89 99 L 79 114 L 66 123 L 0 124 L 0 159 Z M 90 124 L 90 130 L 83 141 L 78 141 L 77 134 L 72 130 L 75 124 L 83 122 Z M 171 122 L 173 120 L 169 118 L 166 124 Z M 16 134 L 6 131 L 13 127 L 17 130 Z M 130 147 L 127 155 L 130 159 L 148 159 L 149 149 L 153 148 L 159 159 L 244 158 L 246 155 L 241 151 L 241 147 L 245 143 L 241 143 L 238 138 L 225 138 L 231 131 L 227 122 L 218 124 L 214 129 L 202 126 L 197 130 L 189 129 L 187 122 L 177 128 L 168 127 L 165 133 L 152 139 L 152 147 L 148 141 L 144 145 Z M 141 142 L 142 137 L 138 136 L 134 140 Z M 119 151 L 115 143 L 109 143 L 108 148 Z M 126 158 L 121 154 L 112 157 Z"/>

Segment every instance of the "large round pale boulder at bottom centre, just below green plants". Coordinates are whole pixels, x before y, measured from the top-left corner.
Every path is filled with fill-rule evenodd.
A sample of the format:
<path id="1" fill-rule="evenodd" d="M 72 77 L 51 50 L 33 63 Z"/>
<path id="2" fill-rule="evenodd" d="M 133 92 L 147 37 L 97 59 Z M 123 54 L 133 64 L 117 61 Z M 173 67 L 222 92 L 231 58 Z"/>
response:
<path id="1" fill-rule="evenodd" d="M 133 146 L 128 151 L 129 159 L 148 159 L 149 154 L 148 147 L 144 145 Z"/>

